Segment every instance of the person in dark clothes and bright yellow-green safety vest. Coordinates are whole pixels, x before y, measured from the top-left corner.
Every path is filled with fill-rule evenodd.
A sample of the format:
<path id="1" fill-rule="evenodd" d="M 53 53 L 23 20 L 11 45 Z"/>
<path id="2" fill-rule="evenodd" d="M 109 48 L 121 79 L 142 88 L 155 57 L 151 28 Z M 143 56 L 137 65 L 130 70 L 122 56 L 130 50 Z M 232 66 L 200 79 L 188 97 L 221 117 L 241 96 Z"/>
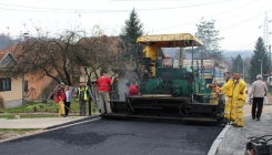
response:
<path id="1" fill-rule="evenodd" d="M 85 83 L 83 82 L 80 83 L 77 94 L 78 94 L 77 101 L 79 101 L 79 107 L 80 107 L 80 115 L 85 116 L 87 101 L 89 100 L 89 96 L 90 96 L 90 93 L 89 93 L 88 86 L 85 86 Z"/>

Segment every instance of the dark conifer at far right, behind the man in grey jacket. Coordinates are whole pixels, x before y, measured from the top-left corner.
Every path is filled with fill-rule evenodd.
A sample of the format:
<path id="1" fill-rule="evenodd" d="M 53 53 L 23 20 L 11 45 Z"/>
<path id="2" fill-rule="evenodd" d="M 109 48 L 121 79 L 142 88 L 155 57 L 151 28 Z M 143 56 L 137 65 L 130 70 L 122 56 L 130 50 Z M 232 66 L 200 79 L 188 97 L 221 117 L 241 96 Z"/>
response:
<path id="1" fill-rule="evenodd" d="M 269 63 L 269 55 L 264 46 L 264 42 L 262 38 L 259 38 L 255 44 L 255 50 L 253 51 L 254 54 L 252 55 L 252 59 L 250 61 L 250 81 L 253 82 L 258 74 L 261 72 L 263 74 L 270 72 L 270 63 Z M 262 71 L 261 71 L 262 68 Z"/>

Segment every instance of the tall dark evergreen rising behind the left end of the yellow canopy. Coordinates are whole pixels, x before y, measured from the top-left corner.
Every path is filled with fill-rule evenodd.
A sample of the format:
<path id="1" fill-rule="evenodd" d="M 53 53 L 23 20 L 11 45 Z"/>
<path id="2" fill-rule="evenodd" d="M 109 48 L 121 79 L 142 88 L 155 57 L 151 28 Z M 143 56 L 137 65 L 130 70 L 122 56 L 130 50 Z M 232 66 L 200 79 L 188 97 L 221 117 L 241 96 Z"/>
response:
<path id="1" fill-rule="evenodd" d="M 121 28 L 119 48 L 125 58 L 135 60 L 135 56 L 142 55 L 142 46 L 137 45 L 137 38 L 143 34 L 143 23 L 140 21 L 135 9 L 130 12 L 129 19 L 124 21 Z"/>

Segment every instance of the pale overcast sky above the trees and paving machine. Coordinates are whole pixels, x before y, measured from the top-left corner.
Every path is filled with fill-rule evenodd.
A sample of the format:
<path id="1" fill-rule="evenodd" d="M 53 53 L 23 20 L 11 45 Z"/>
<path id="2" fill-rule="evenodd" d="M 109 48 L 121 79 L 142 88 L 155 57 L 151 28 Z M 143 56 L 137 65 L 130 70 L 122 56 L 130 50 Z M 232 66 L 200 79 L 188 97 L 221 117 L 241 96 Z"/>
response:
<path id="1" fill-rule="evenodd" d="M 118 35 L 133 8 L 148 34 L 194 34 L 201 19 L 213 19 L 224 38 L 221 50 L 231 51 L 253 50 L 263 37 L 265 13 L 272 19 L 271 0 L 0 0 L 0 33 L 36 37 L 39 29 L 54 35 L 66 30 L 91 32 L 99 25 L 107 35 Z M 269 29 L 272 32 L 272 22 Z"/>

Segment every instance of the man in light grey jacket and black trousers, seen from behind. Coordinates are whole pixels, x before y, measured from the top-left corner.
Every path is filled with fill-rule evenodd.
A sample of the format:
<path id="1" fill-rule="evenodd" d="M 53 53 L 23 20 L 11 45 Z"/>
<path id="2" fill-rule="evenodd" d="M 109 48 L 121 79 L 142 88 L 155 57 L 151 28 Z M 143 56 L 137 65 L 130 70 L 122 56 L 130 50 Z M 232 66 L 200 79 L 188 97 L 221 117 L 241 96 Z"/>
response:
<path id="1" fill-rule="evenodd" d="M 260 121 L 262 108 L 263 108 L 263 101 L 268 94 L 268 85 L 262 81 L 262 75 L 256 75 L 256 81 L 253 82 L 250 97 L 253 95 L 253 104 L 251 108 L 252 120 Z"/>

